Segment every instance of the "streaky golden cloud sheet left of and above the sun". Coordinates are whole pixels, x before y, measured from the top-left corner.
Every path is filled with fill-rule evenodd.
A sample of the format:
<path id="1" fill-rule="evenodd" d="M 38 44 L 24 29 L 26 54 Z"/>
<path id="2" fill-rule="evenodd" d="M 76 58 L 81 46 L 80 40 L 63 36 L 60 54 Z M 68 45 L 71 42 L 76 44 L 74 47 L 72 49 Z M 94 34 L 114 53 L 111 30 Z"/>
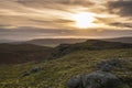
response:
<path id="1" fill-rule="evenodd" d="M 106 7 L 101 2 L 96 0 L 6 0 L 0 3 L 0 23 L 12 26 L 75 29 L 72 25 L 74 24 L 72 16 L 78 12 L 108 16 L 102 13 L 106 12 Z"/>

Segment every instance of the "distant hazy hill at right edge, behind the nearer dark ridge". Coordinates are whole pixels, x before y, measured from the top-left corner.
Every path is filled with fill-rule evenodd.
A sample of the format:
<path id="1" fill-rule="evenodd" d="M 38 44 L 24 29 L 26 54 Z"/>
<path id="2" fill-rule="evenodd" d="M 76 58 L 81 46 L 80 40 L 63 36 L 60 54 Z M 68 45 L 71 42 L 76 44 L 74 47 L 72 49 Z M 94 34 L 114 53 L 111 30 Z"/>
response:
<path id="1" fill-rule="evenodd" d="M 132 43 L 132 36 L 131 37 L 105 38 L 103 41 Z"/>

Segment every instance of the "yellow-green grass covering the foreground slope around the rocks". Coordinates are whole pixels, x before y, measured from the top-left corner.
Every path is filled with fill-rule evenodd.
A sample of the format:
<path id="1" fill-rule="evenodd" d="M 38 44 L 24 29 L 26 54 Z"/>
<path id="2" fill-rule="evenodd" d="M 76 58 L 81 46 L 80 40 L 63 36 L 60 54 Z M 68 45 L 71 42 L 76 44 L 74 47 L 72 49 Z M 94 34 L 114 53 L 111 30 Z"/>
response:
<path id="1" fill-rule="evenodd" d="M 123 68 L 116 69 L 112 73 L 118 77 L 132 78 L 132 48 L 101 51 L 86 50 L 76 51 L 61 58 L 45 61 L 40 64 L 32 62 L 9 66 L 1 65 L 0 88 L 67 88 L 66 81 L 72 76 L 95 72 L 97 70 L 97 63 L 111 58 L 130 61 L 130 64 Z M 42 66 L 44 69 L 25 77 L 20 77 L 23 72 L 26 72 L 34 66 Z M 132 87 L 124 85 L 123 88 Z"/>

